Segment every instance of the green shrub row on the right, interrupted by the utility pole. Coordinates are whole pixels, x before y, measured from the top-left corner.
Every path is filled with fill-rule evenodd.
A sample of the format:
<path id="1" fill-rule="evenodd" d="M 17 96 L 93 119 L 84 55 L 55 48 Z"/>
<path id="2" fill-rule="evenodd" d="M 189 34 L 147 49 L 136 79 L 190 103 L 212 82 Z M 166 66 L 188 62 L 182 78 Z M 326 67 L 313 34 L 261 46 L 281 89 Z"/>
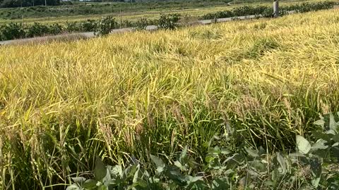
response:
<path id="1" fill-rule="evenodd" d="M 297 11 L 298 13 L 305 13 L 309 11 L 319 11 L 323 9 L 333 8 L 335 2 L 325 1 L 317 3 L 303 3 L 292 6 L 283 6 L 280 8 L 280 15 L 287 14 L 288 11 Z M 216 18 L 230 18 L 242 15 L 261 15 L 263 17 L 272 17 L 273 8 L 268 6 L 241 6 L 233 8 L 230 11 L 219 11 L 217 13 L 208 13 L 203 15 L 203 19 L 216 19 Z"/>

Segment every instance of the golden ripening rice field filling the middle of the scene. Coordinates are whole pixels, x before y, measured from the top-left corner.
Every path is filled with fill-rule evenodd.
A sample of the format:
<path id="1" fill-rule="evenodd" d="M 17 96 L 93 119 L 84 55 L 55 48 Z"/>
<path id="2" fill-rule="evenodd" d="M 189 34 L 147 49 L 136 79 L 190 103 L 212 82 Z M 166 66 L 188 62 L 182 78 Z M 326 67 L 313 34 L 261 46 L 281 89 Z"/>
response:
<path id="1" fill-rule="evenodd" d="M 0 47 L 2 189 L 69 184 L 95 156 L 168 160 L 230 127 L 291 151 L 339 110 L 338 10 Z"/>

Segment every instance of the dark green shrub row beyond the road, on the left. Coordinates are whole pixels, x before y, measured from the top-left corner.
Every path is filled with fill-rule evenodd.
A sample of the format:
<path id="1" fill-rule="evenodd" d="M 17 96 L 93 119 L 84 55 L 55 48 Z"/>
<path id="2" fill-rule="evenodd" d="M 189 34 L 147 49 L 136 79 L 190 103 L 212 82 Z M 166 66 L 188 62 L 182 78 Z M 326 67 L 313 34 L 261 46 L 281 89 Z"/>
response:
<path id="1" fill-rule="evenodd" d="M 162 15 L 159 20 L 141 18 L 134 23 L 125 20 L 121 25 L 112 17 L 101 18 L 100 20 L 86 20 L 84 22 L 66 22 L 66 25 L 58 23 L 34 23 L 32 25 L 9 23 L 8 25 L 0 26 L 0 41 L 72 32 L 95 32 L 97 35 L 105 35 L 119 27 L 135 27 L 136 30 L 145 30 L 148 25 L 157 25 L 160 29 L 172 30 L 177 27 L 179 19 L 179 14 L 169 14 Z"/>

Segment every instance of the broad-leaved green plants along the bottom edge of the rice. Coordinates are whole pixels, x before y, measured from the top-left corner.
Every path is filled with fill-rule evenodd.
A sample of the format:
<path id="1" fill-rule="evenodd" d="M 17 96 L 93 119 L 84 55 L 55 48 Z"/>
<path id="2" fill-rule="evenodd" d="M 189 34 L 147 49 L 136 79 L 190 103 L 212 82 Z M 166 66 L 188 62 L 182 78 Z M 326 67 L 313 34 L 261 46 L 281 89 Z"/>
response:
<path id="1" fill-rule="evenodd" d="M 215 140 L 217 144 L 241 141 L 232 130 L 228 138 L 213 137 L 206 144 L 208 154 L 201 165 L 191 158 L 188 146 L 173 163 L 150 155 L 154 166 L 148 169 L 138 161 L 126 168 L 105 167 L 97 158 L 95 179 L 73 178 L 74 184 L 67 189 L 338 189 L 339 117 L 329 114 L 316 124 L 328 129 L 314 132 L 324 139 L 311 145 L 297 135 L 297 153 L 267 154 L 261 147 L 244 144 L 237 151 L 212 146 Z"/>

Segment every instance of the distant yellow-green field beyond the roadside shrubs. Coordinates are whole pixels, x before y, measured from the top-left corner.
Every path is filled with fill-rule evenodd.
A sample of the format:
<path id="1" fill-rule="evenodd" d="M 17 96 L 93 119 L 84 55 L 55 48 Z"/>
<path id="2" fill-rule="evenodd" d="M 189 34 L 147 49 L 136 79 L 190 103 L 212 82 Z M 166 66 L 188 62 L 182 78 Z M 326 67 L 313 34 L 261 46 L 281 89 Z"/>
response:
<path id="1" fill-rule="evenodd" d="M 295 4 L 298 2 L 311 2 L 314 0 L 285 0 L 282 5 Z M 321 0 L 318 0 L 321 1 Z M 147 4 L 119 4 L 119 3 L 76 3 L 69 6 L 44 6 L 29 8 L 0 8 L 0 24 L 10 22 L 18 23 L 64 23 L 66 21 L 83 21 L 88 19 L 98 19 L 102 16 L 112 15 L 117 20 L 120 19 L 120 8 L 123 20 L 138 20 L 138 18 L 155 19 L 162 13 L 181 13 L 188 17 L 197 17 L 206 13 L 225 11 L 235 6 L 244 5 L 266 5 L 271 6 L 270 1 L 198 1 L 192 3 L 172 2 L 172 3 L 147 3 Z"/>

